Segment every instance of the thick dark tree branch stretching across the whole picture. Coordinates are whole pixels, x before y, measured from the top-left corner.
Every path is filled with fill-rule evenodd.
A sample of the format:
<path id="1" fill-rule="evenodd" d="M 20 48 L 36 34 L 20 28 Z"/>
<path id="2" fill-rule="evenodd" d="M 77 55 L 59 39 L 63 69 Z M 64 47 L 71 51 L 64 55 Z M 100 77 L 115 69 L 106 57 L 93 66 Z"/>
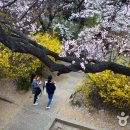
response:
<path id="1" fill-rule="evenodd" d="M 16 30 L 12 31 L 17 32 Z M 30 40 L 24 34 L 17 32 L 17 37 L 13 37 L 11 34 L 5 32 L 0 27 L 0 42 L 7 46 L 14 52 L 31 54 L 39 58 L 46 66 L 52 71 L 57 71 L 58 75 L 63 73 L 69 73 L 71 71 L 83 71 L 85 73 L 97 73 L 104 70 L 111 70 L 114 73 L 120 73 L 123 75 L 130 76 L 130 68 L 113 62 L 95 62 L 95 64 L 88 63 L 85 65 L 85 70 L 81 68 L 80 60 L 73 57 L 59 57 L 55 52 L 48 50 L 45 47 L 40 46 L 35 41 Z M 65 61 L 71 63 L 75 60 L 75 64 L 65 65 L 63 63 L 53 62 L 48 55 L 54 57 L 56 60 Z"/>

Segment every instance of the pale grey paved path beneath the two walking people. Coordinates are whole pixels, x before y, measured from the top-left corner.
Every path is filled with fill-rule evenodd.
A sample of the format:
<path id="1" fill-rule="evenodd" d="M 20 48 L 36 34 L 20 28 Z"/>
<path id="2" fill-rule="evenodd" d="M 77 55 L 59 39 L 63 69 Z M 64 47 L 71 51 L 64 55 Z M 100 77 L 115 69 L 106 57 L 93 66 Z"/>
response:
<path id="1" fill-rule="evenodd" d="M 45 110 L 47 95 L 40 97 L 38 106 L 32 106 L 33 96 L 30 92 L 26 104 L 4 130 L 48 130 L 56 117 L 67 119 L 65 116 L 62 117 L 60 108 L 68 103 L 70 95 L 75 91 L 76 85 L 82 82 L 82 79 L 83 74 L 81 73 L 69 73 L 55 77 L 57 90 L 50 110 Z"/>

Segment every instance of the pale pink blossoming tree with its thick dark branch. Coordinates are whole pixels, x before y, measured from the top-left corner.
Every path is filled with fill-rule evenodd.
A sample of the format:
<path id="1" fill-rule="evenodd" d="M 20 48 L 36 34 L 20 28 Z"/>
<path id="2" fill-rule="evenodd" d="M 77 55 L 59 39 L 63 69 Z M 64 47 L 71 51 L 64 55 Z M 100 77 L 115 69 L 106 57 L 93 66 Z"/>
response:
<path id="1" fill-rule="evenodd" d="M 98 15 L 97 24 L 84 25 L 88 17 Z M 74 38 L 68 28 L 53 23 L 59 16 L 79 22 L 82 30 Z M 53 25 L 53 26 L 52 26 Z M 60 54 L 40 46 L 27 37 L 28 33 L 54 30 L 67 34 Z M 115 63 L 120 56 L 130 56 L 129 0 L 1 0 L 0 42 L 14 52 L 29 53 L 39 58 L 58 75 L 82 70 L 96 73 L 112 70 L 130 76 L 130 68 Z M 69 64 L 54 63 L 48 55 Z"/>

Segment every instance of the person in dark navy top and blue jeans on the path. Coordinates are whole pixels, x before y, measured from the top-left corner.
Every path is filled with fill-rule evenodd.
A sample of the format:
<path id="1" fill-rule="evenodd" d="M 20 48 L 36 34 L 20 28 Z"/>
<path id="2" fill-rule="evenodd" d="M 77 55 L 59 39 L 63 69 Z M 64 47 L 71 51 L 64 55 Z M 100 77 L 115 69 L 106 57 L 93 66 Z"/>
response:
<path id="1" fill-rule="evenodd" d="M 48 80 L 45 81 L 45 83 L 43 85 L 43 91 L 44 91 L 44 89 L 46 89 L 46 92 L 48 94 L 48 103 L 47 103 L 46 109 L 50 109 L 50 106 L 53 101 L 54 92 L 56 90 L 56 83 L 52 81 L 51 75 L 49 75 Z"/>

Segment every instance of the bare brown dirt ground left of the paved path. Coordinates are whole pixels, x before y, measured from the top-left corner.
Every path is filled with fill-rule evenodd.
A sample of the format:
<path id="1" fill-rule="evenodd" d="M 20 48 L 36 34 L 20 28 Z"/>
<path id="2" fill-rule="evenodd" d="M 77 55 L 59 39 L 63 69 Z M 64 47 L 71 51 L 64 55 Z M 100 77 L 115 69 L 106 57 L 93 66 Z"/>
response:
<path id="1" fill-rule="evenodd" d="M 8 79 L 0 79 L 0 130 L 21 110 L 29 92 L 18 91 L 16 85 Z M 13 102 L 13 103 L 10 103 Z"/>

